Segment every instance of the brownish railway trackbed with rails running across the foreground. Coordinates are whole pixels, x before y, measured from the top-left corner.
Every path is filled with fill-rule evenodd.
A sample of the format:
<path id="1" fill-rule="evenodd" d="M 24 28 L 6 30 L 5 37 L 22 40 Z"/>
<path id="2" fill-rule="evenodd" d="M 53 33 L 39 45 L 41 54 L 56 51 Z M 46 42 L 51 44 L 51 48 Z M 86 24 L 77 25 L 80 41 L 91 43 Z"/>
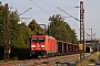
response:
<path id="1" fill-rule="evenodd" d="M 86 54 L 87 56 L 88 54 Z M 66 56 L 56 56 L 50 58 L 40 58 L 40 59 L 26 59 L 26 61 L 14 61 L 8 63 L 1 63 L 0 66 L 54 66 L 58 64 L 68 63 L 73 64 L 80 57 L 80 54 L 66 55 Z"/>

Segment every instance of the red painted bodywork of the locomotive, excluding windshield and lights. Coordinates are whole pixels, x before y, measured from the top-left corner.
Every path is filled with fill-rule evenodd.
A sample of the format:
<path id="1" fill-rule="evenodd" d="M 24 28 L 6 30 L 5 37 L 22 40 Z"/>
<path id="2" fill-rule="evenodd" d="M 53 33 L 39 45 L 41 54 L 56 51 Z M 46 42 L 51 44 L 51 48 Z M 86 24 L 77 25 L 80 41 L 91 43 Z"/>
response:
<path id="1" fill-rule="evenodd" d="M 57 41 L 54 38 L 51 38 L 48 35 L 31 35 L 31 38 L 33 37 L 44 37 L 46 41 L 43 42 L 32 42 L 31 41 L 31 51 L 47 51 L 47 52 L 56 52 L 57 51 Z M 36 47 L 32 47 L 34 45 Z M 41 45 L 44 45 L 44 47 L 41 47 Z M 33 50 L 32 50 L 33 48 Z M 44 50 L 42 50 L 44 48 Z"/>

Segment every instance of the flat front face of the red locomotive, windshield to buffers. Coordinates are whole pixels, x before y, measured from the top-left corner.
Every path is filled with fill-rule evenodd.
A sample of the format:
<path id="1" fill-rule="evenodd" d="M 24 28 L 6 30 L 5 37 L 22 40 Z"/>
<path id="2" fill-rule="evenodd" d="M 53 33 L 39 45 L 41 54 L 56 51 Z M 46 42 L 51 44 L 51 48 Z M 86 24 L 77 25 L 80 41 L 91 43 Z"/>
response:
<path id="1" fill-rule="evenodd" d="M 44 36 L 31 36 L 31 55 L 44 55 L 46 54 L 46 37 Z"/>

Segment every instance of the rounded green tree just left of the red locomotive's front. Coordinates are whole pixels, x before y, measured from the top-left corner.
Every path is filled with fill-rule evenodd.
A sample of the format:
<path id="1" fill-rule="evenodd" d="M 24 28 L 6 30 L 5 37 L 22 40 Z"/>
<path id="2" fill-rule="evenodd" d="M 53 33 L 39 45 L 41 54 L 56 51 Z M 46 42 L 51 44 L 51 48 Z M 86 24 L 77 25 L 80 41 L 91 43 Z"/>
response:
<path id="1" fill-rule="evenodd" d="M 19 24 L 18 31 L 18 44 L 20 48 L 29 48 L 30 47 L 30 36 L 31 30 L 24 23 Z"/>

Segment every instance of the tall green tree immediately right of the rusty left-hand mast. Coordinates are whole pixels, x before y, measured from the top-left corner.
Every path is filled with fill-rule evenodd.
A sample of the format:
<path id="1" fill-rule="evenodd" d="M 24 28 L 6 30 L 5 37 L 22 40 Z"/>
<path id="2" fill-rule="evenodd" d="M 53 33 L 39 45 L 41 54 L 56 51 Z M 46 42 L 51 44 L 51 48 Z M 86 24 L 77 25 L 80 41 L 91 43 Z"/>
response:
<path id="1" fill-rule="evenodd" d="M 11 46 L 18 47 L 18 31 L 19 31 L 19 25 L 18 22 L 20 21 L 19 15 L 17 11 L 12 11 L 9 13 L 9 40 L 11 43 Z"/>

